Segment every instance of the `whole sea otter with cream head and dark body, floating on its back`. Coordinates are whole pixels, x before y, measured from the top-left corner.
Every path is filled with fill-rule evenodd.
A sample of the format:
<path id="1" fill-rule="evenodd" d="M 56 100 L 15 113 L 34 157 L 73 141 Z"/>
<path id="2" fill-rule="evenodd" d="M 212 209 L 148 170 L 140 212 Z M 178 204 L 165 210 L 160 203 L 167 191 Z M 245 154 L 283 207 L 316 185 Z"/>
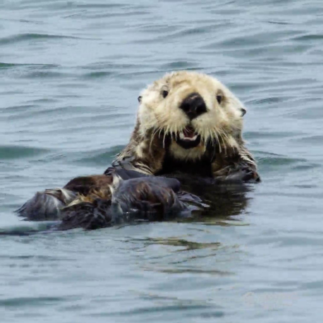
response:
<path id="1" fill-rule="evenodd" d="M 29 220 L 61 219 L 60 229 L 95 229 L 129 217 L 162 220 L 187 209 L 187 201 L 202 205 L 180 189 L 180 182 L 189 188 L 190 179 L 214 187 L 260 181 L 242 139 L 246 109 L 216 78 L 167 73 L 138 101 L 130 141 L 112 167 L 38 192 L 17 213 Z"/>

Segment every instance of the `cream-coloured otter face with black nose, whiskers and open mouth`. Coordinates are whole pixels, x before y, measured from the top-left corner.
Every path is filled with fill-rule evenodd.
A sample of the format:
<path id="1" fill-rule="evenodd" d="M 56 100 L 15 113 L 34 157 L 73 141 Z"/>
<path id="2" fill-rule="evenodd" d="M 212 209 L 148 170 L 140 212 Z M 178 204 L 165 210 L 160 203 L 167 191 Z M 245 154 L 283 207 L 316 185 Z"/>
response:
<path id="1" fill-rule="evenodd" d="M 206 145 L 218 151 L 239 147 L 246 110 L 216 78 L 188 71 L 166 74 L 139 96 L 139 131 L 171 138 L 179 159 L 201 158 Z"/>

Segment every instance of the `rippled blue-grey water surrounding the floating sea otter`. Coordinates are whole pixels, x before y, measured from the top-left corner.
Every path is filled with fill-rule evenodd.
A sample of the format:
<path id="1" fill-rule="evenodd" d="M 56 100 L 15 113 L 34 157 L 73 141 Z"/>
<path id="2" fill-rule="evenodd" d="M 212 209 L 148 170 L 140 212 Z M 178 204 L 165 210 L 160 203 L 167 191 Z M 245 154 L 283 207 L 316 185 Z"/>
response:
<path id="1" fill-rule="evenodd" d="M 321 1 L 0 2 L 0 229 L 102 173 L 140 89 L 206 72 L 245 103 L 263 182 L 232 218 L 0 236 L 1 322 L 319 322 Z"/>

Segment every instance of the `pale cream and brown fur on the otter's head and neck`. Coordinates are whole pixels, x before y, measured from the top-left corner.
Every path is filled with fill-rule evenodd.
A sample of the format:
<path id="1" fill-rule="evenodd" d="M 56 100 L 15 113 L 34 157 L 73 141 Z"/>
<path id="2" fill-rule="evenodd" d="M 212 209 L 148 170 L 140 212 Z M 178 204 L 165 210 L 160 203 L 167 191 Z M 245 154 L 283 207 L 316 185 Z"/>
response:
<path id="1" fill-rule="evenodd" d="M 189 108 L 183 109 L 183 101 L 192 94 L 204 101 L 203 113 L 189 115 Z M 242 139 L 245 113 L 239 99 L 216 78 L 189 71 L 168 73 L 140 93 L 135 129 L 117 160 L 132 157 L 136 169 L 156 174 L 162 171 L 166 154 L 183 164 L 208 155 L 213 177 L 228 175 L 233 161 L 255 171 L 255 161 Z M 197 136 L 200 140 L 183 147 L 177 140 L 183 133 L 191 135 L 186 141 Z"/>

